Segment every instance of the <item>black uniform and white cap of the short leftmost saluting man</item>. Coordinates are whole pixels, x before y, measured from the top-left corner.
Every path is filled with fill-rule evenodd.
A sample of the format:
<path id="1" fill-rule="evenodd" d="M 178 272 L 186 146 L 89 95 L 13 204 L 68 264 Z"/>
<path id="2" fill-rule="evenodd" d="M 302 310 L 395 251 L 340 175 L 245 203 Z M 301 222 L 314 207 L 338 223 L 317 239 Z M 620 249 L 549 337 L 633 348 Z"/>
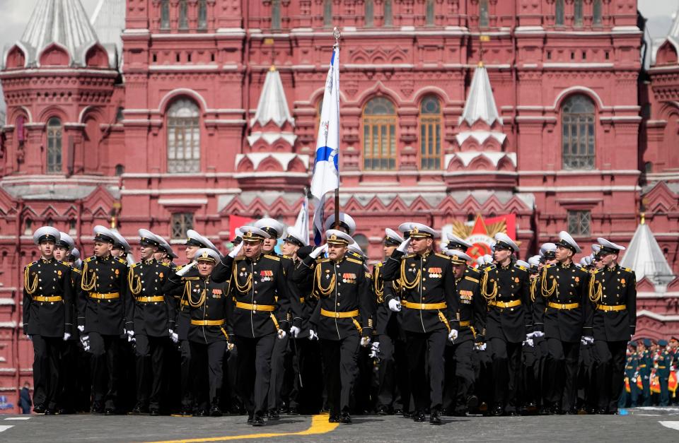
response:
<path id="1" fill-rule="evenodd" d="M 211 259 L 216 262 L 218 258 L 211 249 L 199 249 L 195 256 L 198 261 Z M 224 374 L 222 365 L 228 340 L 226 324 L 231 300 L 227 285 L 217 283 L 211 277 L 179 277 L 175 273 L 168 278 L 165 290 L 172 292 L 178 286 L 184 290 L 181 300 L 182 309 L 189 318 L 186 340 L 190 346 L 195 415 L 204 416 L 209 413 L 218 417 L 221 415 L 219 401 Z"/>

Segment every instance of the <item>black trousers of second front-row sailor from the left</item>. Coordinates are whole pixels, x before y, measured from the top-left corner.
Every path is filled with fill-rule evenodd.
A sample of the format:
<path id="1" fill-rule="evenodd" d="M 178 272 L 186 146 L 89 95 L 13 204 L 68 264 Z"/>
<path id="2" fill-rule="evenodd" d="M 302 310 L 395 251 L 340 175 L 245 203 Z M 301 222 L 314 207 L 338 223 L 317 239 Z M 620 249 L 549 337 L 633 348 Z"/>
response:
<path id="1" fill-rule="evenodd" d="M 90 332 L 93 401 L 115 409 L 120 391 L 120 336 Z"/>

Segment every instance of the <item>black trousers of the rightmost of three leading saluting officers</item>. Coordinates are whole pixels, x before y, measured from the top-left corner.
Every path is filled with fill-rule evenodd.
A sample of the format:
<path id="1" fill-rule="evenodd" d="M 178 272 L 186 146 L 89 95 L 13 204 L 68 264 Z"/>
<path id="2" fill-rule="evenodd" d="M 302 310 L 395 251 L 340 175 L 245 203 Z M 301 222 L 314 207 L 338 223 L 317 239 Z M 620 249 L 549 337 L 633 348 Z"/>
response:
<path id="1" fill-rule="evenodd" d="M 431 406 L 431 410 L 441 409 L 443 404 L 443 378 L 446 370 L 443 354 L 446 352 L 447 340 L 446 329 L 405 333 L 410 390 L 415 403 L 414 410 L 419 413 L 423 413 L 427 406 Z M 426 377 L 427 370 L 429 377 Z"/>

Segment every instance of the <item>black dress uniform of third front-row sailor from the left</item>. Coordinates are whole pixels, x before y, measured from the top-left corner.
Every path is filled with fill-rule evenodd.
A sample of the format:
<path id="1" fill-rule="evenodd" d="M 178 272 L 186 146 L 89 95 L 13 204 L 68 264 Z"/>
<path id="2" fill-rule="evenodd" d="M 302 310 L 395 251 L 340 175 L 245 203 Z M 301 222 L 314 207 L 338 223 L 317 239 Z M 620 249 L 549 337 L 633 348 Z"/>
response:
<path id="1" fill-rule="evenodd" d="M 145 237 L 141 241 L 144 242 Z M 125 328 L 134 331 L 137 343 L 134 350 L 137 406 L 134 412 L 144 412 L 148 408 L 152 415 L 160 413 L 168 330 L 175 327 L 175 302 L 163 292 L 171 272 L 156 259 L 143 260 L 129 267 Z"/>

